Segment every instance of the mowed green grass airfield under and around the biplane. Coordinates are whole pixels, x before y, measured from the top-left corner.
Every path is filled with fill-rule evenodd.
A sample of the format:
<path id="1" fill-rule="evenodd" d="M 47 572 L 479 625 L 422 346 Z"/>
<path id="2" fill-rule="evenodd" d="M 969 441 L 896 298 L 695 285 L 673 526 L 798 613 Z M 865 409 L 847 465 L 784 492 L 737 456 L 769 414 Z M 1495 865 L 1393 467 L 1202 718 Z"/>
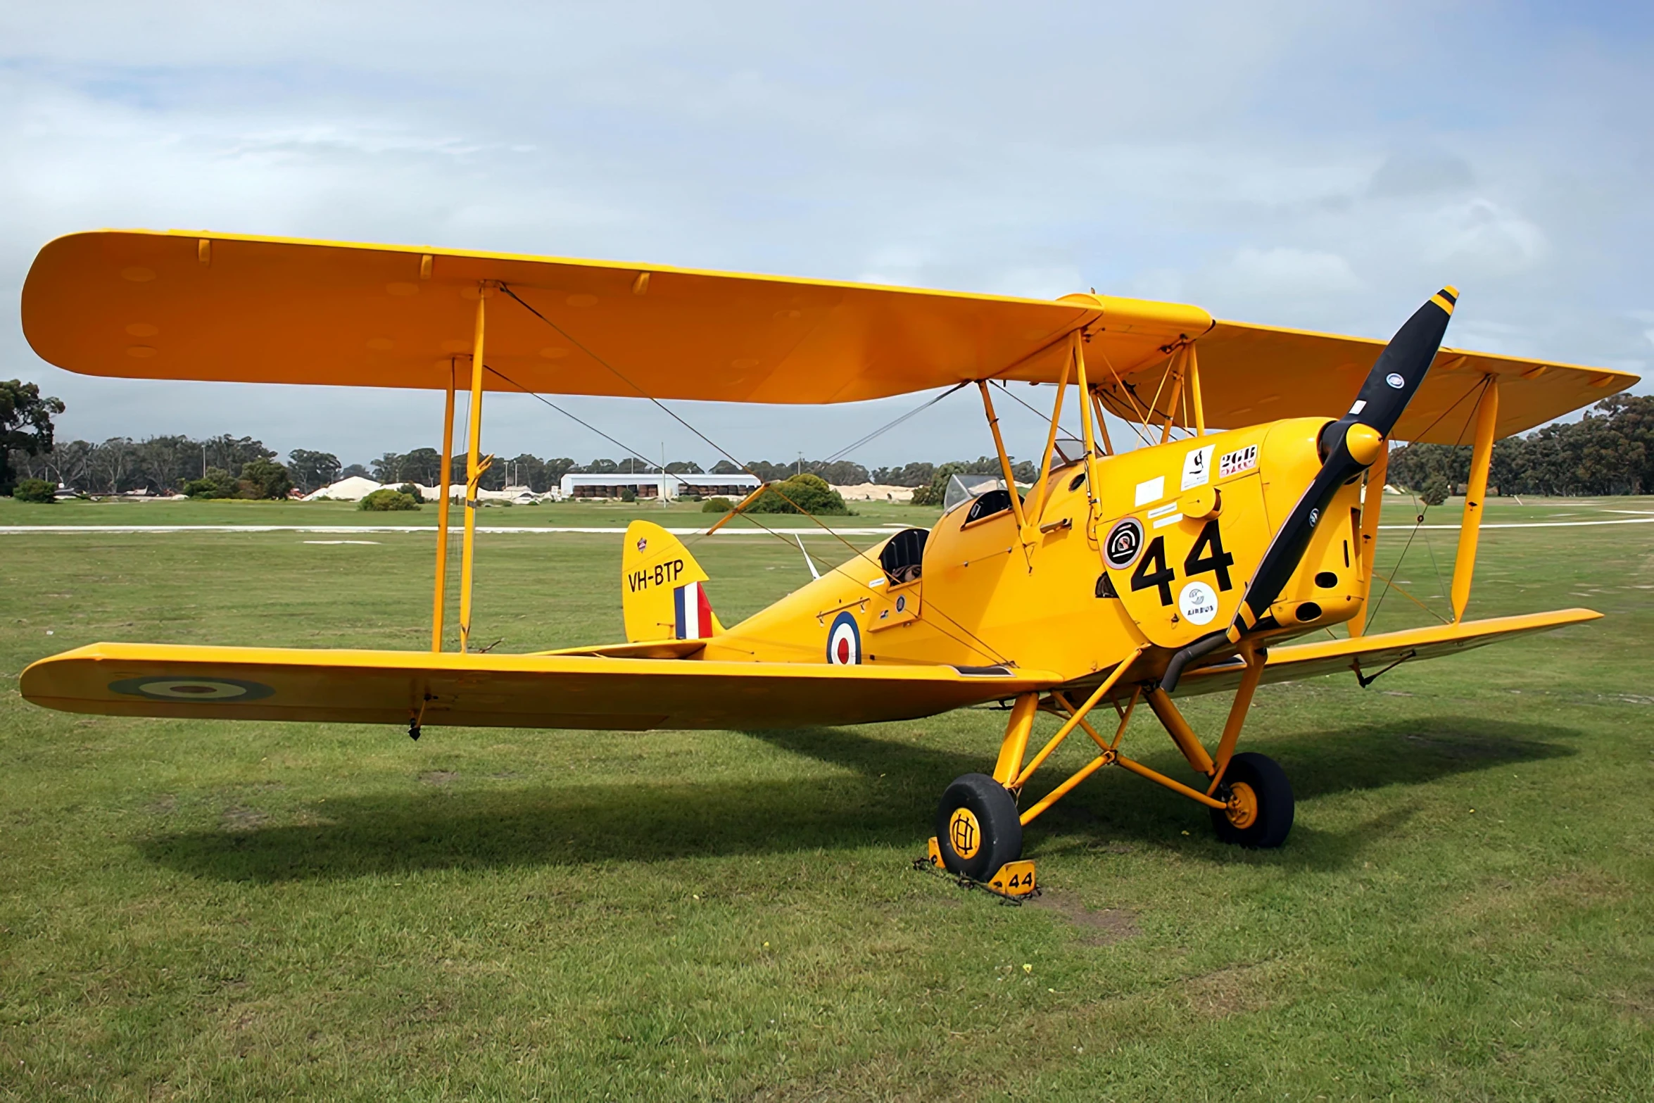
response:
<path id="1" fill-rule="evenodd" d="M 1030 828 L 1022 908 L 910 865 L 1002 713 L 412 742 L 18 698 L 94 640 L 427 645 L 428 534 L 306 539 L 0 537 L 0 1096 L 1654 1096 L 1654 526 L 1484 536 L 1470 615 L 1604 620 L 1264 688 L 1282 850 L 1105 771 Z M 1452 539 L 1396 572 L 1436 610 Z M 619 537 L 480 547 L 483 643 L 619 638 Z M 695 552 L 726 622 L 807 579 Z M 1126 746 L 1188 772 L 1146 716 Z"/>

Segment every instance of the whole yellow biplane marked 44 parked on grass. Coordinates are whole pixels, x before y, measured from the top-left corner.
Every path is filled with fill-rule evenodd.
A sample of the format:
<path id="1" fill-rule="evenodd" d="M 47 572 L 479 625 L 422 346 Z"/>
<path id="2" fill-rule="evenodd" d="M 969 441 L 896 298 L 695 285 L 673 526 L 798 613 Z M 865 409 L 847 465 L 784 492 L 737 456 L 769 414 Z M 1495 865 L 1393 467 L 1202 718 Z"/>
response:
<path id="1" fill-rule="evenodd" d="M 1277 847 L 1282 769 L 1237 752 L 1262 681 L 1363 680 L 1512 635 L 1591 620 L 1565 609 L 1464 620 L 1494 442 L 1634 375 L 1441 347 L 1444 288 L 1389 344 L 1212 319 L 1102 294 L 1034 301 L 647 265 L 195 232 L 98 232 L 46 245 L 23 329 L 93 375 L 470 389 L 458 652 L 443 642 L 448 503 L 438 508 L 430 652 L 94 643 L 31 665 L 23 696 L 117 716 L 511 728 L 769 729 L 1009 703 L 992 774 L 936 810 L 933 860 L 1019 895 L 1022 828 L 1118 766 L 1211 810 L 1217 833 Z M 994 412 L 1009 382 L 1055 384 L 1039 478 L 1022 494 Z M 625 534 L 624 643 L 470 648 L 483 394 L 827 403 L 974 387 L 1002 481 L 898 531 L 724 627 L 706 574 L 660 526 Z M 1060 438 L 1064 403 L 1080 438 Z M 1110 442 L 1111 413 L 1141 446 Z M 1368 635 L 1388 442 L 1474 443 L 1454 620 Z M 1346 625 L 1346 635 L 1288 640 Z M 1371 671 L 1371 673 L 1370 673 Z M 1232 693 L 1207 749 L 1176 696 Z M 1136 706 L 1193 784 L 1121 752 Z M 1092 718 L 1113 709 L 1113 731 Z M 1060 726 L 1032 757 L 1037 713 Z M 1045 795 L 1034 772 L 1072 733 L 1098 754 Z"/>

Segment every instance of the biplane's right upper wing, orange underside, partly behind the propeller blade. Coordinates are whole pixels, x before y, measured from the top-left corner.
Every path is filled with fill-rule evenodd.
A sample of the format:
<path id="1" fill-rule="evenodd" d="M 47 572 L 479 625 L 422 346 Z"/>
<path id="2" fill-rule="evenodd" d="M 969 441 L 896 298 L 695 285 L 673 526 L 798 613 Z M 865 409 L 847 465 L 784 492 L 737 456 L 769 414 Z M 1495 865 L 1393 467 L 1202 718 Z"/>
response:
<path id="1" fill-rule="evenodd" d="M 1214 322 L 1194 342 L 1206 423 L 1237 428 L 1285 417 L 1338 417 L 1350 408 L 1383 349 L 1383 341 L 1366 337 Z M 1116 413 L 1131 415 L 1158 392 L 1163 367 L 1164 357 L 1136 375 L 1121 372 L 1120 382 L 1100 369 L 1092 377 L 1107 384 L 1108 405 Z M 1442 349 L 1391 437 L 1469 443 L 1475 399 L 1489 375 L 1499 379 L 1497 437 L 1545 425 L 1637 382 L 1629 372 L 1604 367 Z M 1163 392 L 1161 407 L 1169 402 L 1171 389 Z M 1173 423 L 1189 423 L 1188 413 L 1174 410 Z"/>

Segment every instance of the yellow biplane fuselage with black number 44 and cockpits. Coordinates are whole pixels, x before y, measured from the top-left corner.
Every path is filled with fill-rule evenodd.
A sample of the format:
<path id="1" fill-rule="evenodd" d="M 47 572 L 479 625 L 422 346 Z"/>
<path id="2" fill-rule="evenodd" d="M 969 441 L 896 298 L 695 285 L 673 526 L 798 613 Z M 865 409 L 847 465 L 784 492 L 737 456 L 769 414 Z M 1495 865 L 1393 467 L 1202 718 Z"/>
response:
<path id="1" fill-rule="evenodd" d="M 1007 665 L 1083 681 L 1121 655 L 1145 661 L 1224 628 L 1275 529 L 1320 470 L 1327 418 L 1293 418 L 1059 466 L 1029 491 L 949 509 L 923 542 L 918 577 L 882 566 L 880 544 L 708 642 L 708 660 Z M 1361 569 L 1360 480 L 1325 509 L 1270 607 L 1270 635 L 1348 620 Z M 1374 498 L 1376 503 L 1376 498 Z M 999 508 L 994 508 L 999 506 Z M 1034 539 L 1025 541 L 1024 534 Z M 913 539 L 910 537 L 910 544 Z M 839 645 L 853 622 L 857 647 Z"/>

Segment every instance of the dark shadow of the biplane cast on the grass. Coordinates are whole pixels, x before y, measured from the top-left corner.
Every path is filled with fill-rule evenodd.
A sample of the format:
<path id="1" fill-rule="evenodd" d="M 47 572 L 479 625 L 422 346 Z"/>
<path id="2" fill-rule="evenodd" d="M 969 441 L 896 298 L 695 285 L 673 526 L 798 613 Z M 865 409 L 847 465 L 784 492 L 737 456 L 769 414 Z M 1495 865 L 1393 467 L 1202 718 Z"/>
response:
<path id="1" fill-rule="evenodd" d="M 1277 757 L 1298 800 L 1383 785 L 1417 785 L 1512 762 L 1575 754 L 1575 733 L 1545 724 L 1436 718 L 1360 724 L 1315 736 L 1259 736 L 1245 749 Z M 715 855 L 923 848 L 933 802 L 953 777 L 984 769 L 982 754 L 880 739 L 857 729 L 756 733 L 771 746 L 847 774 L 762 782 L 524 785 L 372 797 L 334 795 L 326 822 L 151 837 L 141 853 L 215 880 L 289 881 L 433 868 L 658 862 Z M 1130 744 L 1130 738 L 1128 738 Z M 1143 742 L 1138 744 L 1141 752 Z M 1169 746 L 1143 761 L 1174 777 L 1188 767 Z M 1181 769 L 1179 769 L 1181 767 Z M 1060 781 L 1035 777 L 1037 797 Z M 1302 822 L 1279 852 L 1219 847 L 1206 814 L 1159 785 L 1107 771 L 1029 828 L 1029 855 L 1052 857 L 1102 840 L 1197 847 L 1232 862 L 1336 868 L 1404 822 L 1386 817 L 1348 833 Z M 1191 838 L 1183 838 L 1189 830 Z"/>

